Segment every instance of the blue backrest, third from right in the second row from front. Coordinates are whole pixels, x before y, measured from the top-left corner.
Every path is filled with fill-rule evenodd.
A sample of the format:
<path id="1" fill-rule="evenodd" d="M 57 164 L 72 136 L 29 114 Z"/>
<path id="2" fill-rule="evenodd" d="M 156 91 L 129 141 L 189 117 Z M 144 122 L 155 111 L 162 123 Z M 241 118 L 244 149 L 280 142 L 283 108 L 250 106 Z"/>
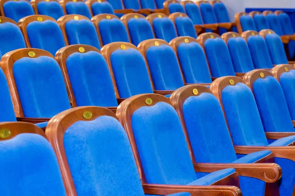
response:
<path id="1" fill-rule="evenodd" d="M 235 72 L 247 73 L 251 70 L 254 70 L 250 50 L 243 38 L 230 38 L 228 40 L 228 48 L 232 57 Z"/>

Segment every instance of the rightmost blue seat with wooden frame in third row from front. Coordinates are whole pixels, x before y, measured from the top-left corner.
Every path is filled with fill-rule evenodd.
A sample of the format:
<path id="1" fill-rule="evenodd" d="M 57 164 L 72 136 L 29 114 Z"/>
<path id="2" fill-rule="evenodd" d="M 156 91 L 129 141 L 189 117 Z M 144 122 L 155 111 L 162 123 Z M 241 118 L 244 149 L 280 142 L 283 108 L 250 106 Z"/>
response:
<path id="1" fill-rule="evenodd" d="M 197 32 L 193 21 L 186 15 L 180 12 L 169 15 L 169 18 L 175 24 L 178 36 L 190 36 L 197 38 Z"/>

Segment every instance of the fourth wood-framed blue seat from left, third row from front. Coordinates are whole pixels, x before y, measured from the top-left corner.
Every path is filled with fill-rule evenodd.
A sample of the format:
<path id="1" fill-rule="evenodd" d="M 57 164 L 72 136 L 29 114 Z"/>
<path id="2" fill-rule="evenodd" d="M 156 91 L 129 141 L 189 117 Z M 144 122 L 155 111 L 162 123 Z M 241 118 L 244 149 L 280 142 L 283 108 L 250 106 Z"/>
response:
<path id="1" fill-rule="evenodd" d="M 91 19 L 95 25 L 101 46 L 113 42 L 130 42 L 125 25 L 111 14 L 99 14 Z"/>

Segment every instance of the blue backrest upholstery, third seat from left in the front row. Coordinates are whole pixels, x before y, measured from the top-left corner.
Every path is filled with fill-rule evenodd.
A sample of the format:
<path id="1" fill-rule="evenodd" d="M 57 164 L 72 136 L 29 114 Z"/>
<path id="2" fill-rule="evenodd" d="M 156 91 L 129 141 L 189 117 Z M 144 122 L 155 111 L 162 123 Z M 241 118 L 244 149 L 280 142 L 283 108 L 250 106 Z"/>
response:
<path id="1" fill-rule="evenodd" d="M 186 185 L 197 179 L 175 109 L 165 102 L 132 115 L 132 129 L 148 183 Z"/>

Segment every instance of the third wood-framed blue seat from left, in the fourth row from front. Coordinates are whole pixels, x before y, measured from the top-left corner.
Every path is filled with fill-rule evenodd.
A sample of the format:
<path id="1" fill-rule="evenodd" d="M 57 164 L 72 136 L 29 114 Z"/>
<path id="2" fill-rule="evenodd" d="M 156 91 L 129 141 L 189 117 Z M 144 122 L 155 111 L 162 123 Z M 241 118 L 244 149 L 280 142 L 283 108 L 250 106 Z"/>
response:
<path id="1" fill-rule="evenodd" d="M 60 0 L 60 5 L 66 15 L 79 14 L 91 19 L 92 15 L 84 0 Z"/>

